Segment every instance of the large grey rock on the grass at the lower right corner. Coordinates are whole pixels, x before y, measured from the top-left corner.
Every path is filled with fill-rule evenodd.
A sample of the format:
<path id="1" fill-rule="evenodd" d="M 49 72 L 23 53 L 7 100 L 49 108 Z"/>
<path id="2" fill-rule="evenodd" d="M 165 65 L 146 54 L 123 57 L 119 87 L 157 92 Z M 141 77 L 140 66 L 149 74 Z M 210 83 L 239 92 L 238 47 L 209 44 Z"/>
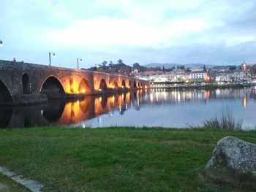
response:
<path id="1" fill-rule="evenodd" d="M 256 145 L 236 137 L 220 139 L 206 165 L 205 173 L 211 179 L 223 183 L 255 181 Z"/>

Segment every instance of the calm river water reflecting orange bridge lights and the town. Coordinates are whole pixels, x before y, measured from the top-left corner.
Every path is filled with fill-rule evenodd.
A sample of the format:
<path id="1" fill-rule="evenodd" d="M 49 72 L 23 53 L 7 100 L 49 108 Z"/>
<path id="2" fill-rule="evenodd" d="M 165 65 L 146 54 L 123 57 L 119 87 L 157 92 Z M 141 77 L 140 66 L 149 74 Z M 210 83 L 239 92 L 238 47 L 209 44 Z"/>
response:
<path id="1" fill-rule="evenodd" d="M 0 127 L 164 126 L 184 128 L 233 112 L 243 128 L 256 128 L 256 90 L 164 89 L 87 96 L 80 101 L 49 101 L 29 107 L 0 107 Z"/>

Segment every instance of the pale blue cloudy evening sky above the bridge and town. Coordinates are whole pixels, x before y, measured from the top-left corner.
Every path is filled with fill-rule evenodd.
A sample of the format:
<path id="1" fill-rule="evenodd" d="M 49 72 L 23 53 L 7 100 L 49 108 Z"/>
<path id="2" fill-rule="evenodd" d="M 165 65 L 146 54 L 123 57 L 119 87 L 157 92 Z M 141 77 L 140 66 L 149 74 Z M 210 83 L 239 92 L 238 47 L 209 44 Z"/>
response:
<path id="1" fill-rule="evenodd" d="M 1 0 L 0 59 L 256 64 L 255 0 Z"/>

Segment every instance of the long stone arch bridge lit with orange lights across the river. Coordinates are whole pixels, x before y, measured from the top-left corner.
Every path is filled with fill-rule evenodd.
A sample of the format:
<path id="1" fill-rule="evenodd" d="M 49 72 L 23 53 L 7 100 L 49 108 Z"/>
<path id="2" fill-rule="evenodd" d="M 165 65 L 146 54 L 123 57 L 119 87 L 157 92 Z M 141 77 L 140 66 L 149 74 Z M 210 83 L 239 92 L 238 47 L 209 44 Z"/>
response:
<path id="1" fill-rule="evenodd" d="M 120 74 L 0 60 L 0 104 L 37 103 L 147 87 L 147 81 Z"/>

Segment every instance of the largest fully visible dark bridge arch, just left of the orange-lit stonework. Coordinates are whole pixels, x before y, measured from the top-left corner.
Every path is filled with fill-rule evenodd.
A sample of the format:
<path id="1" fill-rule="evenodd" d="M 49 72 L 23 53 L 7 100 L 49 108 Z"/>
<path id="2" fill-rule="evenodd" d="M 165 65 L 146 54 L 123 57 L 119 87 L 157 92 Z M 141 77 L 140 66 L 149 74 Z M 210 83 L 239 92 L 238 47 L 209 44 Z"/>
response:
<path id="1" fill-rule="evenodd" d="M 63 98 L 65 91 L 61 82 L 54 76 L 46 78 L 40 88 L 40 93 L 45 93 L 48 99 Z"/>

